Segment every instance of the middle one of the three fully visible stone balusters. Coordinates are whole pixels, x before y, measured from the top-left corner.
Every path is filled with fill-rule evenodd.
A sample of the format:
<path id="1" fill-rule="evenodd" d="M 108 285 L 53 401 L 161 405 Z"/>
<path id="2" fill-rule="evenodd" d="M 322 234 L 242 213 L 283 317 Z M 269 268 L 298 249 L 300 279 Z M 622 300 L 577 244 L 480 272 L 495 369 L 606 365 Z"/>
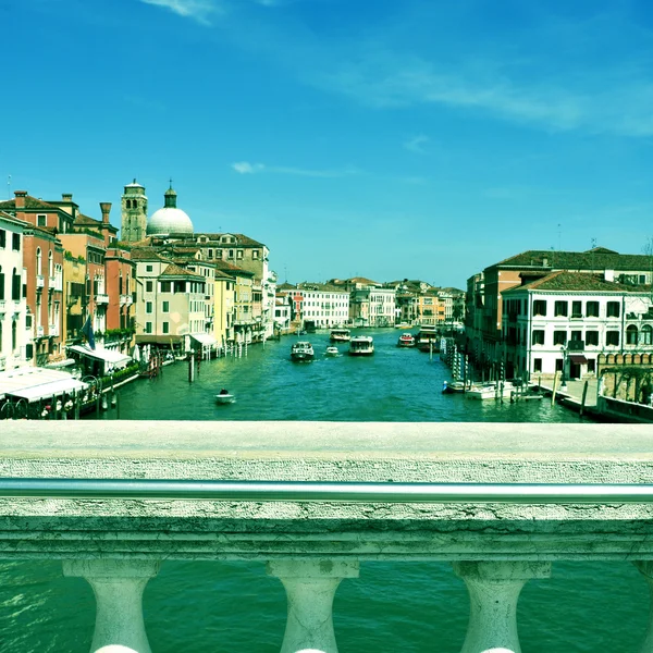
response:
<path id="1" fill-rule="evenodd" d="M 337 653 L 333 596 L 343 578 L 358 577 L 358 562 L 272 560 L 268 574 L 283 583 L 288 616 L 281 653 Z"/>

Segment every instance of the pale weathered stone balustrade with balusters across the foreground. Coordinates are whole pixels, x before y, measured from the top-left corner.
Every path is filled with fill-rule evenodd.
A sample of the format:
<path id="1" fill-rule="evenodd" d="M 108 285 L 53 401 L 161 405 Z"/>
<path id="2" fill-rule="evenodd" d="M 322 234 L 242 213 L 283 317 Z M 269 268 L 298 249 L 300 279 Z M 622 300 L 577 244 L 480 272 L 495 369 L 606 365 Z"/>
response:
<path id="1" fill-rule="evenodd" d="M 84 577 L 96 653 L 150 651 L 141 595 L 163 560 L 264 560 L 287 596 L 282 653 L 337 651 L 333 597 L 359 563 L 449 560 L 470 596 L 463 653 L 516 653 L 519 593 L 556 560 L 631 560 L 653 588 L 652 445 L 646 426 L 3 421 L 0 557 Z M 201 481 L 258 494 L 202 497 Z"/>

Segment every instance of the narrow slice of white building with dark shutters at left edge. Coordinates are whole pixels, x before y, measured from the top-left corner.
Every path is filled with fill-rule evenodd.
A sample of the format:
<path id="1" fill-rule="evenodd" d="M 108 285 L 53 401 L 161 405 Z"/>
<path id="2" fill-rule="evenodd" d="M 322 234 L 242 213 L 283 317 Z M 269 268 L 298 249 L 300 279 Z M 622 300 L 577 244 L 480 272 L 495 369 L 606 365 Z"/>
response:
<path id="1" fill-rule="evenodd" d="M 23 229 L 28 223 L 0 211 L 0 371 L 29 365 L 25 326 Z"/>

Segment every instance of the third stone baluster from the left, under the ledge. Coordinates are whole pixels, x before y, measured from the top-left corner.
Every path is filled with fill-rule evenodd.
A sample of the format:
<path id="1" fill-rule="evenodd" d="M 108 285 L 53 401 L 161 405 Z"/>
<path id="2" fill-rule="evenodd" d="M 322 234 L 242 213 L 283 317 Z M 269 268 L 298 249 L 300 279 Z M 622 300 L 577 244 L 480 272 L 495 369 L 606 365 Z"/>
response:
<path id="1" fill-rule="evenodd" d="M 454 571 L 469 591 L 463 653 L 520 653 L 517 600 L 531 578 L 549 578 L 550 563 L 459 562 Z"/>

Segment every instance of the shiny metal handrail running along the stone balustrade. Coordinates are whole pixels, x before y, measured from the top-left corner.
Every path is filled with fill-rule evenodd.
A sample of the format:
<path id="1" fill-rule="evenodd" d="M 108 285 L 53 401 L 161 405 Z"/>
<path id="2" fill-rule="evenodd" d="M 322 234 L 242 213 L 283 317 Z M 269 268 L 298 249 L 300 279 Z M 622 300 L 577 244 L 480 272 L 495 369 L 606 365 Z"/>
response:
<path id="1" fill-rule="evenodd" d="M 0 497 L 248 502 L 653 503 L 653 484 L 0 479 Z"/>

